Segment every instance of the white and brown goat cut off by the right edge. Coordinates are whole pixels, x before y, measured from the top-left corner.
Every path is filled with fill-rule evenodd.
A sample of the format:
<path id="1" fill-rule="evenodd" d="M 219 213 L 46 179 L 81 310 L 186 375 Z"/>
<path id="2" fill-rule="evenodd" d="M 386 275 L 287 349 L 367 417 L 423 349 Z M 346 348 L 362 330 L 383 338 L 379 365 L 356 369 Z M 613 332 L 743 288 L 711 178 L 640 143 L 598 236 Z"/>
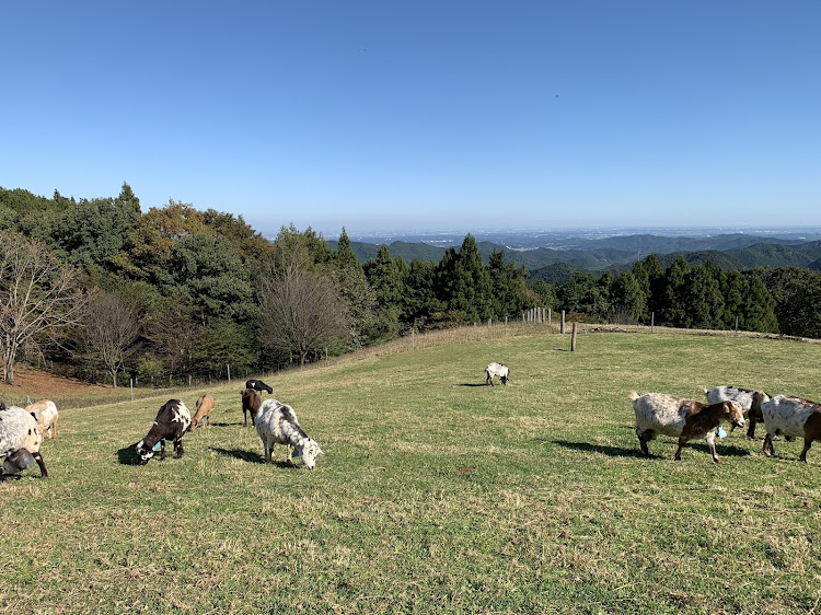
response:
<path id="1" fill-rule="evenodd" d="M 773 436 L 802 436 L 803 450 L 798 457 L 807 463 L 807 451 L 813 440 L 821 440 L 821 404 L 799 397 L 776 395 L 770 398 L 765 393 L 756 393 L 761 399 L 761 411 L 764 415 L 764 454 L 775 455 Z"/>

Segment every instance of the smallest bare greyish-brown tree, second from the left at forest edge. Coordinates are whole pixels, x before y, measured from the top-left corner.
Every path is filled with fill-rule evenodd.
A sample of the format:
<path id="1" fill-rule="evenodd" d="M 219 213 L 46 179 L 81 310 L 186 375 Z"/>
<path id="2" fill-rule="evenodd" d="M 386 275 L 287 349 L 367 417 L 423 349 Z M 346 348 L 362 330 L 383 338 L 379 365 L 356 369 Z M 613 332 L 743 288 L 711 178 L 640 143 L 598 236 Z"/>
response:
<path id="1" fill-rule="evenodd" d="M 92 358 L 102 362 L 117 387 L 117 374 L 138 348 L 140 322 L 137 312 L 119 297 L 101 292 L 89 301 L 85 341 Z"/>

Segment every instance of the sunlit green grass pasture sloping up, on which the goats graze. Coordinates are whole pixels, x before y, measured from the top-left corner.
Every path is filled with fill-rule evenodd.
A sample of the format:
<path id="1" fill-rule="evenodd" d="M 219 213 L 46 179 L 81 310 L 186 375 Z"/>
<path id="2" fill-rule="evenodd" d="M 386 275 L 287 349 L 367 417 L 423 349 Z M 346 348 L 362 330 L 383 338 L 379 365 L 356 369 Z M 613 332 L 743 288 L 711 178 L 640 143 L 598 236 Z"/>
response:
<path id="1" fill-rule="evenodd" d="M 2 613 L 812 613 L 821 445 L 736 430 L 640 455 L 631 391 L 821 398 L 821 345 L 511 326 L 274 376 L 326 455 L 262 463 L 240 383 L 185 456 L 130 465 L 166 397 L 66 409 L 0 484 Z M 507 363 L 511 383 L 483 386 Z M 183 395 L 194 407 L 203 388 Z M 231 411 L 227 411 L 227 410 Z M 761 428 L 760 428 L 761 429 Z"/>

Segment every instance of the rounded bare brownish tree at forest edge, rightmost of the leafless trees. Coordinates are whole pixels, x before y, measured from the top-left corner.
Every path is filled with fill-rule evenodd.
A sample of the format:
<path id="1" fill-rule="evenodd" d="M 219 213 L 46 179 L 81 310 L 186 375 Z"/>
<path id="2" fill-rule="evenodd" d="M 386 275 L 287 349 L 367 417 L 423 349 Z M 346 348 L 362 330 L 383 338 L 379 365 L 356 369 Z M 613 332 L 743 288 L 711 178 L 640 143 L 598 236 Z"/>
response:
<path id="1" fill-rule="evenodd" d="M 262 339 L 299 355 L 333 346 L 350 335 L 345 302 L 333 281 L 317 271 L 292 267 L 266 283 L 261 301 Z"/>

